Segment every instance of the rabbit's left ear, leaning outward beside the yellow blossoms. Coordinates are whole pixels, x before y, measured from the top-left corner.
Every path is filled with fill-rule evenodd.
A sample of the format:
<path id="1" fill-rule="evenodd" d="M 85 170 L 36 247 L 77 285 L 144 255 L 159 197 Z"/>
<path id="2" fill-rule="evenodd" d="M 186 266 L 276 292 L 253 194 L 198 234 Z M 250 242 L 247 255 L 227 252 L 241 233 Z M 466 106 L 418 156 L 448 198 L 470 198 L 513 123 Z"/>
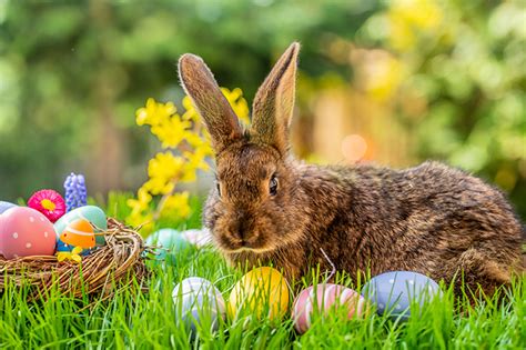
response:
<path id="1" fill-rule="evenodd" d="M 184 91 L 204 119 L 215 152 L 221 152 L 242 137 L 237 117 L 200 57 L 183 54 L 179 60 L 179 77 Z"/>

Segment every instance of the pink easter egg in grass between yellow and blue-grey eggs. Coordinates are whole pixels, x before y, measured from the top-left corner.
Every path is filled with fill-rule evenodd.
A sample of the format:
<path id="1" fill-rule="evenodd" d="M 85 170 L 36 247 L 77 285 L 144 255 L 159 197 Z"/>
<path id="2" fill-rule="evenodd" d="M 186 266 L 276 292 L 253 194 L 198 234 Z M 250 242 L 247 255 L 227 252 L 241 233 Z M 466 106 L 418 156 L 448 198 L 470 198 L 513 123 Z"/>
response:
<path id="1" fill-rule="evenodd" d="M 299 333 L 311 327 L 313 312 L 326 314 L 331 309 L 345 308 L 347 318 L 362 317 L 366 310 L 365 299 L 356 291 L 338 284 L 317 284 L 300 292 L 294 301 L 292 319 Z"/>

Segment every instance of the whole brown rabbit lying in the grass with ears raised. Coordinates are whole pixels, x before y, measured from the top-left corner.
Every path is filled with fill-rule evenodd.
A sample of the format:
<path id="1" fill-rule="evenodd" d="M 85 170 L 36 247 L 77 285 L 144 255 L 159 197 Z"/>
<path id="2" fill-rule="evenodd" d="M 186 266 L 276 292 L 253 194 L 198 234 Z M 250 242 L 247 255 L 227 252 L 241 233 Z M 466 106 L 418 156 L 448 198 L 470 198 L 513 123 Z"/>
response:
<path id="1" fill-rule="evenodd" d="M 201 58 L 179 61 L 215 150 L 218 186 L 204 224 L 226 259 L 272 262 L 299 278 L 315 263 L 330 269 L 322 248 L 353 277 L 411 270 L 451 281 L 463 271 L 468 287 L 486 292 L 509 282 L 519 269 L 522 227 L 482 180 L 438 162 L 392 170 L 320 167 L 291 156 L 299 50 L 291 44 L 259 89 L 249 130 Z"/>

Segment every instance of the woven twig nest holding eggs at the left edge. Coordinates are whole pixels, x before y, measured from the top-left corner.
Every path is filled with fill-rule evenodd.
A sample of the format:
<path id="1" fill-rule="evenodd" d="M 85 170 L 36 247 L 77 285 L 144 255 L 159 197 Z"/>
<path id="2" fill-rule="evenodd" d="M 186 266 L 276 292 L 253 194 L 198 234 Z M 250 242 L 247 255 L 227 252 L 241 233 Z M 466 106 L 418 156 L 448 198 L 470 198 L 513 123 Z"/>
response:
<path id="1" fill-rule="evenodd" d="M 30 287 L 30 298 L 48 294 L 58 287 L 60 292 L 80 298 L 84 294 L 111 297 L 132 283 L 143 286 L 149 276 L 144 264 L 141 236 L 114 219 L 108 219 L 102 232 L 107 244 L 82 262 L 59 262 L 54 256 L 22 257 L 4 260 L 0 257 L 0 290 L 9 283 Z"/>

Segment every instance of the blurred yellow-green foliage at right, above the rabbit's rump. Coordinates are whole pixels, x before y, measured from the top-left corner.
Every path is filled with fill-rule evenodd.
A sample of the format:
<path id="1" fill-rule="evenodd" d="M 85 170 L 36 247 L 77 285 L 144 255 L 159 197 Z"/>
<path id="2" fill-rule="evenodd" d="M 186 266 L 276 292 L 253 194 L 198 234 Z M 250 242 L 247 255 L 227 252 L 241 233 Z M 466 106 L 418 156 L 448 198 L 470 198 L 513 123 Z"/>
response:
<path id="1" fill-rule="evenodd" d="M 393 100 L 417 157 L 485 178 L 526 217 L 526 2 L 393 1 L 364 28 L 405 69 Z"/>

